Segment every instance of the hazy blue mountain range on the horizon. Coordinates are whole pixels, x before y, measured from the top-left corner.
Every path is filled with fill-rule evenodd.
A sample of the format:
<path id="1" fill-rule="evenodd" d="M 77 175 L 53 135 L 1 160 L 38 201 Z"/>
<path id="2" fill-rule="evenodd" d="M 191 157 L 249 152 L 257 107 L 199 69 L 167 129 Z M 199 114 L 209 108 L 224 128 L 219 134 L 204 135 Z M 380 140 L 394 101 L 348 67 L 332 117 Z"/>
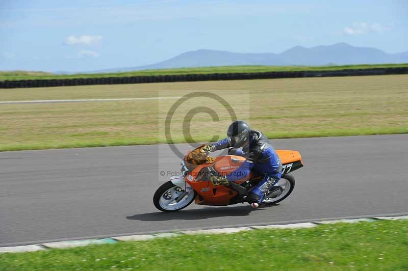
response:
<path id="1" fill-rule="evenodd" d="M 235 65 L 321 66 L 327 64 L 353 65 L 385 63 L 408 63 L 408 51 L 386 53 L 376 48 L 356 47 L 347 43 L 320 45 L 311 48 L 295 46 L 282 53 L 238 53 L 200 49 L 188 51 L 174 58 L 151 65 L 115 68 L 95 72 Z"/>

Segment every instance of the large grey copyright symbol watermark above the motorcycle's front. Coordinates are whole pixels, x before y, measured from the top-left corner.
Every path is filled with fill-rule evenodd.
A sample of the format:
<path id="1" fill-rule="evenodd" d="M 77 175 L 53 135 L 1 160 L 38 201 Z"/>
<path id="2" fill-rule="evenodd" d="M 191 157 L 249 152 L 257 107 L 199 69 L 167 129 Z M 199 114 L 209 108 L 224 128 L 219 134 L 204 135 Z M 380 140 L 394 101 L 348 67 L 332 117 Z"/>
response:
<path id="1" fill-rule="evenodd" d="M 228 112 L 228 114 L 230 114 L 232 122 L 237 120 L 237 116 L 236 116 L 232 106 L 224 98 L 220 97 L 219 95 L 217 95 L 215 93 L 199 91 L 199 92 L 189 93 L 187 95 L 184 95 L 180 99 L 178 99 L 171 106 L 169 112 L 167 113 L 167 116 L 166 116 L 166 119 L 165 119 L 165 122 L 164 122 L 164 133 L 165 133 L 165 137 L 166 137 L 166 142 L 167 142 L 167 144 L 169 144 L 170 149 L 180 159 L 183 159 L 184 154 L 179 149 L 177 149 L 177 147 L 174 145 L 174 142 L 173 142 L 173 140 L 171 138 L 171 132 L 170 132 L 171 119 L 173 117 L 174 112 L 177 110 L 177 108 L 179 108 L 180 105 L 182 105 L 184 102 L 186 102 L 189 99 L 197 98 L 197 97 L 200 97 L 200 98 L 201 97 L 206 97 L 206 98 L 210 98 L 210 99 L 213 99 L 213 100 L 217 101 L 218 103 L 223 105 L 224 108 L 226 109 L 226 111 Z M 184 137 L 184 140 L 186 142 L 197 143 L 194 140 L 192 140 L 191 131 L 190 131 L 190 124 L 191 124 L 192 118 L 198 113 L 206 113 L 206 114 L 211 116 L 213 121 L 219 121 L 219 117 L 218 117 L 217 113 L 213 109 L 211 109 L 210 107 L 196 106 L 193 109 L 189 110 L 187 112 L 186 116 L 183 119 L 183 137 Z M 212 139 L 211 139 L 211 142 L 218 141 L 218 139 L 219 139 L 218 136 L 213 136 Z M 190 144 L 190 146 L 194 147 L 191 144 Z"/>

